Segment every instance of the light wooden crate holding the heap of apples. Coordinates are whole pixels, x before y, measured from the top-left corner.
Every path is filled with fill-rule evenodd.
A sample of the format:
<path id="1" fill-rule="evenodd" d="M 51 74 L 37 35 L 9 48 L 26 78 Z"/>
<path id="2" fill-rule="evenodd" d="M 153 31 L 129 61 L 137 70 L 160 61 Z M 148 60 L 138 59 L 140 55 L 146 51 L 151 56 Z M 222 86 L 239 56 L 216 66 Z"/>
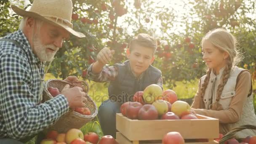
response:
<path id="1" fill-rule="evenodd" d="M 219 120 L 203 115 L 197 117 L 199 118 L 197 120 L 131 120 L 117 113 L 116 128 L 119 131 L 117 141 L 120 144 L 142 144 L 142 141 L 161 140 L 166 133 L 177 131 L 184 139 L 211 141 L 196 144 L 216 144 L 213 139 L 219 138 Z"/>

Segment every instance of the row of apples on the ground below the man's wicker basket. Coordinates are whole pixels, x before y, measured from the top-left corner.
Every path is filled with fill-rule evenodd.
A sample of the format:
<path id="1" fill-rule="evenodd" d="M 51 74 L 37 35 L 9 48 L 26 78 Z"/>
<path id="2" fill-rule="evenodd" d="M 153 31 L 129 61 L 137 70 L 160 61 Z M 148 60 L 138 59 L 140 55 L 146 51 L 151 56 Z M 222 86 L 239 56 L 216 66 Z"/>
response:
<path id="1" fill-rule="evenodd" d="M 67 133 L 49 131 L 40 144 L 117 144 L 112 136 L 99 136 L 94 132 L 83 134 L 82 131 L 72 128 Z"/>

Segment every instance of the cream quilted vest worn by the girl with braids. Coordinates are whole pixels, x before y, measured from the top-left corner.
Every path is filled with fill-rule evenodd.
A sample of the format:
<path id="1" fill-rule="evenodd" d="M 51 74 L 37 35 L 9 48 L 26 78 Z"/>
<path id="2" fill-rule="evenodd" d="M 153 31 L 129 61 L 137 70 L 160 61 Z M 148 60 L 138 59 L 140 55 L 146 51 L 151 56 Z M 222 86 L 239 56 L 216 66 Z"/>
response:
<path id="1" fill-rule="evenodd" d="M 235 96 L 235 87 L 237 82 L 237 76 L 245 69 L 241 69 L 239 67 L 232 67 L 232 70 L 230 72 L 230 76 L 227 80 L 226 85 L 224 85 L 223 91 L 221 93 L 221 97 L 219 100 L 219 103 L 222 105 L 224 110 L 229 109 L 229 104 Z M 205 103 L 205 108 L 209 109 L 209 105 L 211 104 L 211 96 L 213 96 L 212 103 L 216 100 L 216 91 L 218 88 L 218 85 L 221 81 L 221 76 L 224 71 L 224 68 L 222 68 L 219 72 L 219 75 L 214 75 L 213 71 L 210 74 L 210 80 L 207 85 L 207 88 L 205 89 L 205 95 L 203 96 L 203 101 Z M 201 86 L 203 85 L 203 81 L 205 79 L 206 75 L 204 75 L 201 78 Z M 249 93 L 248 93 L 249 94 Z M 256 115 L 254 113 L 254 107 L 253 107 L 253 94 L 251 96 L 247 97 L 247 100 L 243 106 L 243 112 L 240 116 L 240 119 L 236 123 L 228 123 L 228 124 L 220 124 L 220 131 L 224 133 L 227 133 L 231 131 L 233 128 L 236 128 L 240 125 L 256 125 Z M 245 129 L 243 131 L 237 132 L 235 136 L 239 138 L 245 138 L 246 136 L 255 136 L 256 131 L 252 131 L 249 129 Z"/>

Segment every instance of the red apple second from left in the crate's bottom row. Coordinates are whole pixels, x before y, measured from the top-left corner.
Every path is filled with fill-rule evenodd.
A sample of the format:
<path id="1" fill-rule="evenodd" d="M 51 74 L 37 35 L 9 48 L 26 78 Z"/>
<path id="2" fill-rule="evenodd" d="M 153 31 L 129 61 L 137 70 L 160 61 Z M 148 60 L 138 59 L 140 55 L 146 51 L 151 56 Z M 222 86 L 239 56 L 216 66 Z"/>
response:
<path id="1" fill-rule="evenodd" d="M 139 109 L 141 109 L 143 105 L 137 101 L 132 101 L 131 104 L 127 106 L 126 115 L 130 119 L 138 119 Z"/>

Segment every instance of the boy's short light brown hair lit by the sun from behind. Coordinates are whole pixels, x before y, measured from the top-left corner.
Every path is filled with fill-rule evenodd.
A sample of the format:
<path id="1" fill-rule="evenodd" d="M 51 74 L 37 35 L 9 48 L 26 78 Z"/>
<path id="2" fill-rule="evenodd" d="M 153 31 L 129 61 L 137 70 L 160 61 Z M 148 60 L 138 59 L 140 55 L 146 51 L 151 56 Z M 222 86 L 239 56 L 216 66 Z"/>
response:
<path id="1" fill-rule="evenodd" d="M 128 47 L 130 51 L 132 51 L 134 44 L 138 44 L 146 48 L 151 48 L 154 50 L 154 53 L 157 49 L 157 40 L 154 37 L 144 33 L 137 35 L 133 40 L 130 41 Z"/>

